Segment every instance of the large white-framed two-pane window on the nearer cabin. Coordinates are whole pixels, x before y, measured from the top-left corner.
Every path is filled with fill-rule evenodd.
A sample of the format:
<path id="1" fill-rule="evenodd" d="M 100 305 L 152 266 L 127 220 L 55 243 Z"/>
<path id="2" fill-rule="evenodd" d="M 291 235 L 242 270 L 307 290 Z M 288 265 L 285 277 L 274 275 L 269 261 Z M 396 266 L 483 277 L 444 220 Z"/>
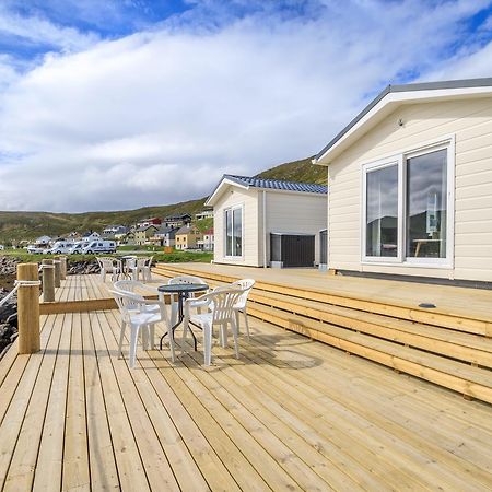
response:
<path id="1" fill-rule="evenodd" d="M 363 260 L 450 265 L 453 155 L 452 140 L 364 167 Z"/>

